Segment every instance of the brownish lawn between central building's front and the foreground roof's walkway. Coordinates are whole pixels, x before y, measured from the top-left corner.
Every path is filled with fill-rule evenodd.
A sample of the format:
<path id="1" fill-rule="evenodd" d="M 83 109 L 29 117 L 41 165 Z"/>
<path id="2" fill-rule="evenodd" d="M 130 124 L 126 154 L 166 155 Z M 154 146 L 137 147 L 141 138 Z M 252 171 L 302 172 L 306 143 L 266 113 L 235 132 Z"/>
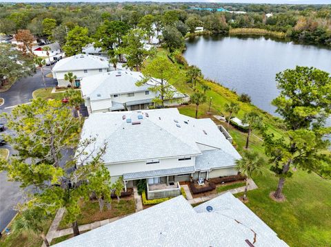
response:
<path id="1" fill-rule="evenodd" d="M 112 209 L 99 211 L 98 202 L 86 202 L 81 203 L 81 215 L 78 218 L 78 224 L 88 224 L 92 222 L 98 222 L 103 219 L 109 219 L 121 215 L 128 215 L 136 211 L 133 198 L 130 200 L 122 199 L 119 202 L 112 200 Z M 70 224 L 66 224 L 63 219 L 59 224 L 59 229 L 70 228 Z"/>

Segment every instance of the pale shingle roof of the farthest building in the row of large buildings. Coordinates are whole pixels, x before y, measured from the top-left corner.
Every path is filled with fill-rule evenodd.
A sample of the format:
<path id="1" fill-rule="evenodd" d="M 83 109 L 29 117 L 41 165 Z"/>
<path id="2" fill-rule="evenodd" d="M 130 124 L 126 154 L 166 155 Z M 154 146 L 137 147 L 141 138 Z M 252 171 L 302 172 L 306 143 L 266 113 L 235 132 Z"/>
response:
<path id="1" fill-rule="evenodd" d="M 54 65 L 52 72 L 67 72 L 83 69 L 107 69 L 108 67 L 109 63 L 106 58 L 101 56 L 78 54 L 61 59 Z"/>

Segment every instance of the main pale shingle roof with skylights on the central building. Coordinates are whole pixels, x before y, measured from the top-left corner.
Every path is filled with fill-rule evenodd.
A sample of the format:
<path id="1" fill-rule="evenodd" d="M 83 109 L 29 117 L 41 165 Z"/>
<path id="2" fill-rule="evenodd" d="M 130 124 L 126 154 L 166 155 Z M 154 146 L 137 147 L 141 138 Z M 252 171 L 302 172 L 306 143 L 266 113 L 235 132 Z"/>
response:
<path id="1" fill-rule="evenodd" d="M 241 158 L 210 119 L 190 118 L 179 114 L 177 108 L 142 112 L 143 114 L 141 111 L 91 114 L 84 122 L 81 139 L 96 137 L 97 141 L 86 151 L 92 152 L 107 142 L 103 160 L 108 164 L 200 155 L 198 144 L 202 144 L 209 149 L 222 149 L 232 160 Z M 125 120 L 122 119 L 123 115 L 126 115 Z M 139 115 L 142 119 L 138 119 Z M 139 121 L 140 124 L 132 125 L 131 122 L 126 122 L 128 118 L 132 122 Z"/>

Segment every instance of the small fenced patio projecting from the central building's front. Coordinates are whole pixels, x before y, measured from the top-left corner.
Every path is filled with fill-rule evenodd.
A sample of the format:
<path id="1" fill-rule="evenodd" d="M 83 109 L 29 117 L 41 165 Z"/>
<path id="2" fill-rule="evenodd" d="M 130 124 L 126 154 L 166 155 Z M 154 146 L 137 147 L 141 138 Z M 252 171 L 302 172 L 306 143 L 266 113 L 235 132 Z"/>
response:
<path id="1" fill-rule="evenodd" d="M 148 200 L 163 198 L 163 197 L 176 197 L 181 195 L 181 186 L 179 182 L 169 182 L 169 184 L 148 184 L 147 183 L 147 197 Z"/>

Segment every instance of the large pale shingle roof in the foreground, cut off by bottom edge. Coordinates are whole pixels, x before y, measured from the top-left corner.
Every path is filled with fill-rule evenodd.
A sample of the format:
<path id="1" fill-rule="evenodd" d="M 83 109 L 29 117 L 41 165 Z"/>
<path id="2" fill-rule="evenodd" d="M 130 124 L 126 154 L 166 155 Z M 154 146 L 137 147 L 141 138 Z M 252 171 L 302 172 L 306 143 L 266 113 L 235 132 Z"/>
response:
<path id="1" fill-rule="evenodd" d="M 175 197 L 54 245 L 60 246 L 288 247 L 231 193 L 194 208 Z"/>

